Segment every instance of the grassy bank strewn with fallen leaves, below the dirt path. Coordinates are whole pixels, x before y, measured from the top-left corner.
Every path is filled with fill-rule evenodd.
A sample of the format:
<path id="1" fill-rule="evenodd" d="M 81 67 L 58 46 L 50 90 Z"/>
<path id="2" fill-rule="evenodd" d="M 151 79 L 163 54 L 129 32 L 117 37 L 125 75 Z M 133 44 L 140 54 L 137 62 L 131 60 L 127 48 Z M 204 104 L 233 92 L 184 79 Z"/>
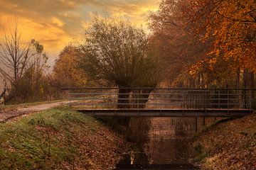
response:
<path id="1" fill-rule="evenodd" d="M 112 169 L 122 137 L 68 106 L 0 124 L 0 169 Z"/>

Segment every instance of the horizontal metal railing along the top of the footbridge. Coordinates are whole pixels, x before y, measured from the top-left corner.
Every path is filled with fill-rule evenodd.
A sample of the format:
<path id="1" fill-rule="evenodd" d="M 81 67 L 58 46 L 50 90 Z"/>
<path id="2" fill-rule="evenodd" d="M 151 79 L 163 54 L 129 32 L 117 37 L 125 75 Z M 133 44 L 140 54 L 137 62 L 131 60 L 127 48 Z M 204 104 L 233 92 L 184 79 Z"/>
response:
<path id="1" fill-rule="evenodd" d="M 256 89 L 63 88 L 85 109 L 252 109 Z"/>

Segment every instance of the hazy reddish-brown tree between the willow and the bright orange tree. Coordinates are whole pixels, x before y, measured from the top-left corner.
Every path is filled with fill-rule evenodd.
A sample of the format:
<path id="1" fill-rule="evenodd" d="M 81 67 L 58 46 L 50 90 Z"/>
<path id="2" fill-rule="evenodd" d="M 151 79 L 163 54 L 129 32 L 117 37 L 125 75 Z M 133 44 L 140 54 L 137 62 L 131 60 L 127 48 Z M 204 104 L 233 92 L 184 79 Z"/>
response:
<path id="1" fill-rule="evenodd" d="M 159 10 L 150 13 L 151 43 L 161 54 L 166 79 L 171 86 L 200 87 L 197 83 L 200 73 L 191 77 L 191 65 L 203 60 L 208 52 L 208 42 L 200 41 L 200 34 L 188 32 L 183 19 L 181 1 L 163 0 Z"/>

